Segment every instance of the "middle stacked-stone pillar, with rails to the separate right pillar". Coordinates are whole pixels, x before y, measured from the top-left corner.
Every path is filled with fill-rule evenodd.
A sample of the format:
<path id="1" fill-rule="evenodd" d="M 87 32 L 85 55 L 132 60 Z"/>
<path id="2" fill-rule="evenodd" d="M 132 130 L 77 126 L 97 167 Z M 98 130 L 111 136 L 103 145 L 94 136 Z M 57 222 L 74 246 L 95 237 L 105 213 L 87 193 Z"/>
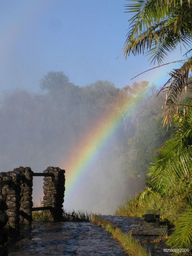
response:
<path id="1" fill-rule="evenodd" d="M 20 226 L 28 228 L 32 221 L 32 186 L 33 186 L 33 171 L 30 167 L 20 166 L 13 171 L 21 174 L 21 191 L 20 191 Z"/>

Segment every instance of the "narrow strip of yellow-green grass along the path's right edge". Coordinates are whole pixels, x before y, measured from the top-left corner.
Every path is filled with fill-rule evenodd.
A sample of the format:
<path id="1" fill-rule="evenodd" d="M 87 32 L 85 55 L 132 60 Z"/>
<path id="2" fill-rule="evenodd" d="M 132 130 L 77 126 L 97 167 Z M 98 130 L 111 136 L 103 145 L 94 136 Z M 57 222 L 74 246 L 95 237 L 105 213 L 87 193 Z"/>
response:
<path id="1" fill-rule="evenodd" d="M 108 220 L 101 219 L 92 215 L 92 222 L 101 225 L 108 233 L 112 235 L 112 238 L 118 240 L 120 245 L 124 248 L 124 251 L 130 256 L 150 256 L 146 248 L 143 248 L 139 241 L 135 240 L 131 234 L 127 235 L 123 233 L 119 228 L 115 227 Z"/>

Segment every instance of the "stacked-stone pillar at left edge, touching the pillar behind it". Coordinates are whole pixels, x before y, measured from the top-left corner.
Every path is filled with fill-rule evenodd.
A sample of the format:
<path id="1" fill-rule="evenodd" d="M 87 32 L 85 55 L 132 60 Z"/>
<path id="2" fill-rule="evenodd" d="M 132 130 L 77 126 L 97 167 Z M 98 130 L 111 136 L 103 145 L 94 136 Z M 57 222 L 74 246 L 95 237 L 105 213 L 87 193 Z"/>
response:
<path id="1" fill-rule="evenodd" d="M 9 228 L 19 232 L 19 209 L 20 209 L 20 181 L 21 175 L 17 172 L 1 172 L 0 180 L 10 180 L 10 184 L 0 186 L 0 199 L 3 199 L 8 209 Z"/>

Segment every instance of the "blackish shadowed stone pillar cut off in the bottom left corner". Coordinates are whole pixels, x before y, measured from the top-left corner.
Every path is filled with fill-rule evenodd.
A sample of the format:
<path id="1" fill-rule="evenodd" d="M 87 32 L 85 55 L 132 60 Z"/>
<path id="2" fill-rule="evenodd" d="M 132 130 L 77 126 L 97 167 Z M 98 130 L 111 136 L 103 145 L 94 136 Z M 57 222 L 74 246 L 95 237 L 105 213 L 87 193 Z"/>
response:
<path id="1" fill-rule="evenodd" d="M 0 255 L 8 256 L 7 247 L 4 245 L 8 240 L 8 232 L 4 227 L 7 224 L 8 217 L 6 214 L 7 205 L 4 200 L 0 199 Z"/>

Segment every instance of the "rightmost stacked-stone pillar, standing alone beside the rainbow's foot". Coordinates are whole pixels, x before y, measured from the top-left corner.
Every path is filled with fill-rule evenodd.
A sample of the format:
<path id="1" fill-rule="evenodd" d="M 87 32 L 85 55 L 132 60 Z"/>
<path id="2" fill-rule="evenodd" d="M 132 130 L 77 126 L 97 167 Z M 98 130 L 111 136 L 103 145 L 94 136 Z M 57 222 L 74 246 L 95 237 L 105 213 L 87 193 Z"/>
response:
<path id="1" fill-rule="evenodd" d="M 44 206 L 51 206 L 52 221 L 63 219 L 63 202 L 65 192 L 65 170 L 59 167 L 47 167 L 44 173 L 53 173 L 52 177 L 44 177 Z"/>

